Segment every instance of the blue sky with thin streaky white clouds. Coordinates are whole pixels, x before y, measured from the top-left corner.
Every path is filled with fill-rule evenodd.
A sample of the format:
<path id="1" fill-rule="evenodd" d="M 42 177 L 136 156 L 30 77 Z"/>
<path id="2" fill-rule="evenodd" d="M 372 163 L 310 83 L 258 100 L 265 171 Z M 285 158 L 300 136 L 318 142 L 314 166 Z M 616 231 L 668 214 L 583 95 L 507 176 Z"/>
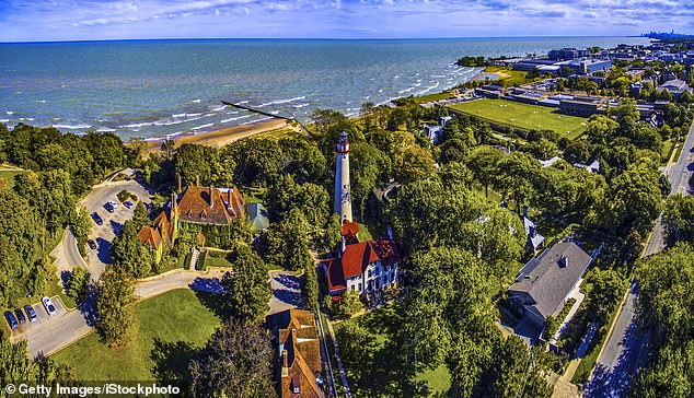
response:
<path id="1" fill-rule="evenodd" d="M 0 0 L 0 42 L 694 33 L 694 0 Z"/>

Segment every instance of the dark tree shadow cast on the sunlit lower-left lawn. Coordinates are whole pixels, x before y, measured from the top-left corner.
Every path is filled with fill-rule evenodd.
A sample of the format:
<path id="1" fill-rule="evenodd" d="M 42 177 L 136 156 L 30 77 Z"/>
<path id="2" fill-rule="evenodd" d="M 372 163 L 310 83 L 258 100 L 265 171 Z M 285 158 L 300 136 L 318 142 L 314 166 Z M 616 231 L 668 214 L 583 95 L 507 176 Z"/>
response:
<path id="1" fill-rule="evenodd" d="M 172 384 L 182 390 L 189 382 L 188 364 L 197 353 L 195 347 L 185 341 L 167 342 L 154 339 L 150 358 L 154 362 L 152 376 L 161 384 Z"/>

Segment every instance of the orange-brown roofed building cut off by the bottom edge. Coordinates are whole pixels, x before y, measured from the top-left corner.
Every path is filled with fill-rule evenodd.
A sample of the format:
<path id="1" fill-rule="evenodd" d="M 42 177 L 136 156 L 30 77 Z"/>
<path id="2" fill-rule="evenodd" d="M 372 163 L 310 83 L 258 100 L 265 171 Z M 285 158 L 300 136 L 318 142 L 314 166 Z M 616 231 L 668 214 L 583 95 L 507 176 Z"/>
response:
<path id="1" fill-rule="evenodd" d="M 286 309 L 265 317 L 277 347 L 280 398 L 323 398 L 323 362 L 315 318 L 309 311 Z"/>

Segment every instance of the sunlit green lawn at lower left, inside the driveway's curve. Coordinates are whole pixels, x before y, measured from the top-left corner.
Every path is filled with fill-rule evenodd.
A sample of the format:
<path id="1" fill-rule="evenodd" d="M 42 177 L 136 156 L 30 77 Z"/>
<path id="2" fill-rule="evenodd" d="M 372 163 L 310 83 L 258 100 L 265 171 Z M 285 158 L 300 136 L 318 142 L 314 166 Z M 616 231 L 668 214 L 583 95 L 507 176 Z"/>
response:
<path id="1" fill-rule="evenodd" d="M 146 300 L 137 304 L 136 330 L 125 348 L 111 349 L 93 332 L 51 358 L 72 366 L 82 381 L 175 378 L 221 324 L 212 298 L 180 289 Z"/>

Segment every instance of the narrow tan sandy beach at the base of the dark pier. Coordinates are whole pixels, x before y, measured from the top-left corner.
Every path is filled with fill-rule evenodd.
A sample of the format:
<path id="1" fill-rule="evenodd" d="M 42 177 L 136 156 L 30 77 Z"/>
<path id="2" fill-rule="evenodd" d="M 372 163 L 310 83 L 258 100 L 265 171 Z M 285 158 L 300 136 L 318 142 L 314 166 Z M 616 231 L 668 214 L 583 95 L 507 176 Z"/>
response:
<path id="1" fill-rule="evenodd" d="M 220 148 L 242 138 L 286 127 L 294 129 L 294 127 L 291 126 L 287 120 L 267 120 L 250 125 L 229 127 L 210 132 L 182 134 L 177 137 L 172 137 L 172 139 L 176 142 L 176 147 L 180 147 L 184 143 L 199 143 L 203 145 Z M 164 140 L 165 138 L 158 139 L 155 141 L 149 141 L 147 150 L 149 152 L 160 152 L 161 144 L 162 142 L 164 142 Z"/>

